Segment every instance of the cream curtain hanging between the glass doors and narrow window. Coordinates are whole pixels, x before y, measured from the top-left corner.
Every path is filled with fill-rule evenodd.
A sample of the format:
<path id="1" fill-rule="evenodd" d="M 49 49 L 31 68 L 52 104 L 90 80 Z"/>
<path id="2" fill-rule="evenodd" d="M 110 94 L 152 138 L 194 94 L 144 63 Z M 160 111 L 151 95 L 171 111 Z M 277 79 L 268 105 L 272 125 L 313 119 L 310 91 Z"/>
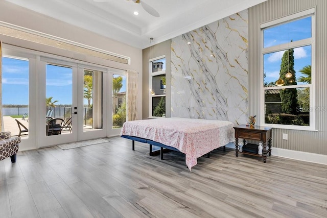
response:
<path id="1" fill-rule="evenodd" d="M 127 70 L 126 121 L 137 119 L 137 72 Z"/>

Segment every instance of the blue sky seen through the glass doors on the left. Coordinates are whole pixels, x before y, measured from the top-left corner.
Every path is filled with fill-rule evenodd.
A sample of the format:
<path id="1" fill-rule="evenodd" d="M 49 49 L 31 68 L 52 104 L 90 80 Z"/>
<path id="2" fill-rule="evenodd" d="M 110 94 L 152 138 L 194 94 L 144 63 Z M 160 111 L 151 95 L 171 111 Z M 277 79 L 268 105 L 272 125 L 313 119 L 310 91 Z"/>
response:
<path id="1" fill-rule="evenodd" d="M 114 75 L 114 77 L 117 75 Z M 3 57 L 3 105 L 29 104 L 29 62 Z M 69 67 L 46 65 L 46 98 L 53 97 L 59 105 L 72 104 L 73 70 Z M 123 77 L 122 91 L 126 91 Z M 45 100 L 44 100 L 45 104 Z M 87 100 L 84 100 L 87 104 Z"/>

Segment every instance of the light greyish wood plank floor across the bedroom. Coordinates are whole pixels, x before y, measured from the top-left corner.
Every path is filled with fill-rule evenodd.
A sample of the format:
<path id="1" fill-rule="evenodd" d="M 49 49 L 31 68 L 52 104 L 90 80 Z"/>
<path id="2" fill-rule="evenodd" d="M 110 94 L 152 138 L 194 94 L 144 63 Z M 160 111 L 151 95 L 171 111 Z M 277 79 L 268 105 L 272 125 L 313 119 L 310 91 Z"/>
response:
<path id="1" fill-rule="evenodd" d="M 0 161 L 0 217 L 326 217 L 327 167 L 218 149 L 150 157 L 121 137 Z"/>

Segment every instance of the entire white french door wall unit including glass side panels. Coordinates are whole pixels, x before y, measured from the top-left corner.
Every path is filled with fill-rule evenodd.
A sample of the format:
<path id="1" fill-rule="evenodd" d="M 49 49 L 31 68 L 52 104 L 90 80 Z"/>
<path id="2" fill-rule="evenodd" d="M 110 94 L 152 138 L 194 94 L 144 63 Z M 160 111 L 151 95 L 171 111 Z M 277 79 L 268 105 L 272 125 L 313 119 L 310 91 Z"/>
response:
<path id="1" fill-rule="evenodd" d="M 119 135 L 126 119 L 125 70 L 11 45 L 3 52 L 3 104 L 20 111 L 5 117 L 5 130 L 12 127 L 13 136 L 18 134 L 15 118 L 26 125 L 21 151 Z M 24 119 L 13 116 L 25 113 Z M 66 125 L 61 134 L 49 134 L 47 120 L 52 118 Z"/>

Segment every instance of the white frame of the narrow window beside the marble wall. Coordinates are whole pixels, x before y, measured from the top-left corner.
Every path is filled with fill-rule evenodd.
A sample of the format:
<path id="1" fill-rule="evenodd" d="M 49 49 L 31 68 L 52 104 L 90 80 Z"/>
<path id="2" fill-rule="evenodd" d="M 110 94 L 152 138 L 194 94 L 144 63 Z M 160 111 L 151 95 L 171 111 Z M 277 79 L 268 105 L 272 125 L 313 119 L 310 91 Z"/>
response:
<path id="1" fill-rule="evenodd" d="M 161 55 L 155 58 L 151 58 L 149 59 L 149 118 L 158 118 L 159 116 L 153 116 L 153 109 L 152 109 L 152 103 L 153 103 L 153 98 L 156 97 L 166 97 L 166 93 L 165 94 L 155 94 L 152 95 L 151 91 L 153 90 L 153 77 L 155 76 L 159 76 L 159 75 L 165 75 L 166 76 L 166 68 L 157 72 L 152 72 L 152 63 L 160 60 L 160 59 L 166 59 L 166 55 Z"/>

